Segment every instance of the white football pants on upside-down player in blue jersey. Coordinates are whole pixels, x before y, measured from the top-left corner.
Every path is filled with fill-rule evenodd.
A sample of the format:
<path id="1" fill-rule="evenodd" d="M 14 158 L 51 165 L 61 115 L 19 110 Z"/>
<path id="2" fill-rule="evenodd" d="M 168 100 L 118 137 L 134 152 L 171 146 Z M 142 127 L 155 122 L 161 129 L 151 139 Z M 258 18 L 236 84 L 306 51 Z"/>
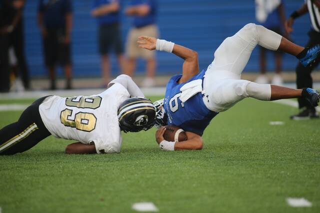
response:
<path id="1" fill-rule="evenodd" d="M 202 93 L 205 106 L 221 112 L 246 97 L 270 100 L 270 84 L 256 84 L 240 78 L 257 44 L 277 50 L 281 39 L 281 35 L 254 23 L 246 24 L 233 36 L 224 39 L 204 75 Z"/>

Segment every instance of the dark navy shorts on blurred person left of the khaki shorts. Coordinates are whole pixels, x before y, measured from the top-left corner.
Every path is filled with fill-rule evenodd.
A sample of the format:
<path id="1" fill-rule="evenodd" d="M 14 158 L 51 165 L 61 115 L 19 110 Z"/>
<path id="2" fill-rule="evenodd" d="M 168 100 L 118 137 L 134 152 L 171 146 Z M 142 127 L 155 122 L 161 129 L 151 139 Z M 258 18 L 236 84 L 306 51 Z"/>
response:
<path id="1" fill-rule="evenodd" d="M 119 24 L 101 24 L 98 31 L 99 53 L 106 55 L 113 48 L 116 55 L 123 53 Z"/>

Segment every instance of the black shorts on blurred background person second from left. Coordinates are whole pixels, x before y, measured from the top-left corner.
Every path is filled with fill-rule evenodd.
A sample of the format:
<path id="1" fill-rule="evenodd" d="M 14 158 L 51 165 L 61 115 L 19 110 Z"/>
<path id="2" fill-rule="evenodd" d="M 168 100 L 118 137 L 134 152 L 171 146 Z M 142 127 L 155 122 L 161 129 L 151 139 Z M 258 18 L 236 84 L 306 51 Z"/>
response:
<path id="1" fill-rule="evenodd" d="M 46 66 L 61 66 L 71 64 L 70 43 L 65 43 L 64 30 L 47 29 L 47 36 L 43 39 L 44 62 Z"/>

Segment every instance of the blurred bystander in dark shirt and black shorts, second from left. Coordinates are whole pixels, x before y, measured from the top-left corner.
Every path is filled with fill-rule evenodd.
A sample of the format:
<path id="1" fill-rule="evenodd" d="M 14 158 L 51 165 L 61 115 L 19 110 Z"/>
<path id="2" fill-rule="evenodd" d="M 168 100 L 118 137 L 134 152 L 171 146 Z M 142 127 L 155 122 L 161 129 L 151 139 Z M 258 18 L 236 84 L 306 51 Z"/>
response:
<path id="1" fill-rule="evenodd" d="M 39 0 L 37 18 L 43 38 L 45 66 L 49 70 L 50 89 L 56 89 L 57 63 L 64 69 L 65 89 L 71 89 L 71 0 Z"/>

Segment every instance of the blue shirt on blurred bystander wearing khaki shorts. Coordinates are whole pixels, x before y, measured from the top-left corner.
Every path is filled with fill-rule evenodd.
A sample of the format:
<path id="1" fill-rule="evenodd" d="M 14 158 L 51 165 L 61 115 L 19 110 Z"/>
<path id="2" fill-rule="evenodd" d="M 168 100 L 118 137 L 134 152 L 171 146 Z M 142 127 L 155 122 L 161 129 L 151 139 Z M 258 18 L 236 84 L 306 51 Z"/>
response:
<path id="1" fill-rule="evenodd" d="M 131 0 L 130 6 L 137 6 L 140 4 L 147 4 L 150 7 L 150 11 L 145 16 L 133 16 L 133 26 L 135 27 L 142 27 L 149 24 L 155 23 L 155 15 L 156 15 L 156 9 L 157 9 L 157 3 L 156 0 Z"/>

